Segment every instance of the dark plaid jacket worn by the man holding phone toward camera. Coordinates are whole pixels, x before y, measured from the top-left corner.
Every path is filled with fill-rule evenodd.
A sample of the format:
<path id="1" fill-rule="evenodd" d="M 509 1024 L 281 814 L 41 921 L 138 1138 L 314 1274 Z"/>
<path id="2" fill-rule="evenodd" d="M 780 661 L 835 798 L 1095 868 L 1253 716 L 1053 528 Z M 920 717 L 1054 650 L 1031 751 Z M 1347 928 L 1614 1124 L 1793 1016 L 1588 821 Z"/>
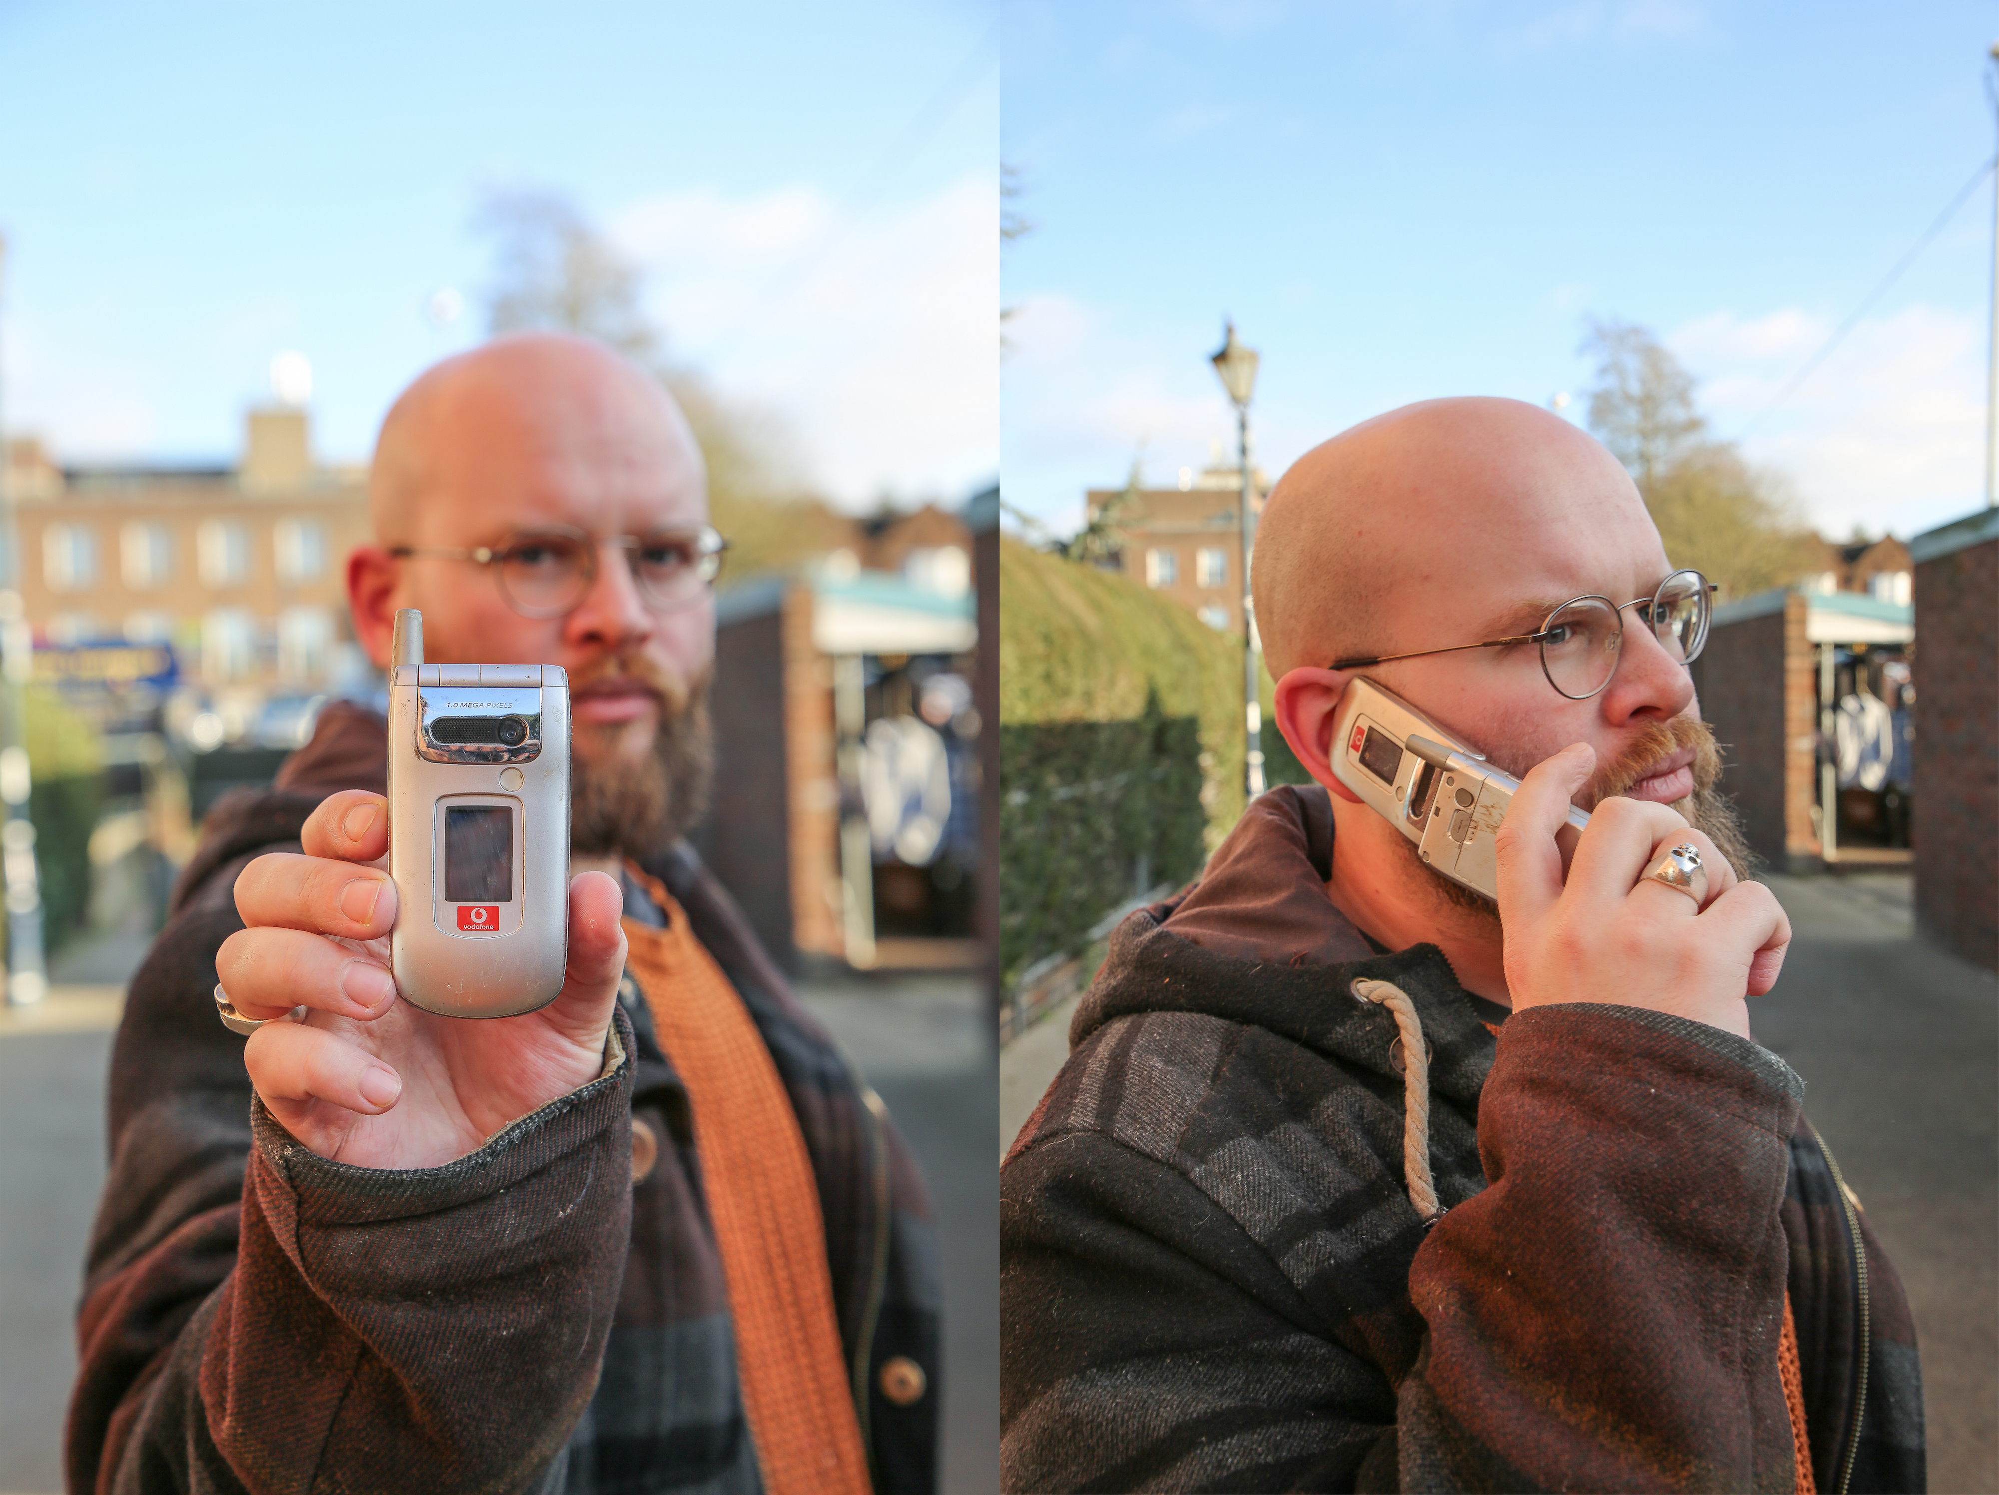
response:
<path id="1" fill-rule="evenodd" d="M 378 716 L 330 710 L 274 791 L 220 803 L 132 983 L 70 1489 L 756 1491 L 688 1097 L 630 975 L 608 1073 L 446 1167 L 332 1163 L 254 1101 L 210 1001 L 216 949 L 242 927 L 236 873 L 296 851 L 326 793 L 380 791 L 382 744 Z M 940 1287 L 924 1185 L 694 853 L 648 869 L 798 1111 L 876 1489 L 928 1491 Z M 658 1139 L 636 1185 L 634 1117 Z M 884 1393 L 892 1357 L 926 1371 L 914 1401 Z M 908 1397 L 910 1379 L 890 1383 Z"/>

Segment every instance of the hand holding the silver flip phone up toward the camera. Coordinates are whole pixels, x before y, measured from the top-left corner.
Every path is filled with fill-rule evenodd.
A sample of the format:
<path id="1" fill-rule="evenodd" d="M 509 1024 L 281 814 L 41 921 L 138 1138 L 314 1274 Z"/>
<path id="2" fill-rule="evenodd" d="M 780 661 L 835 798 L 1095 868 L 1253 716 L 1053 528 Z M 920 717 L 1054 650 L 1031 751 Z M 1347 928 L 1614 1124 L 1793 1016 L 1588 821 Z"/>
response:
<path id="1" fill-rule="evenodd" d="M 306 855 L 262 855 L 236 879 L 248 927 L 222 943 L 216 973 L 244 1017 L 310 1007 L 244 1047 L 256 1093 L 306 1147 L 360 1167 L 436 1167 L 604 1071 L 626 955 L 614 879 L 570 883 L 568 979 L 552 1003 L 438 1017 L 398 1001 L 388 969 L 396 883 L 364 865 L 388 849 L 388 801 L 336 793 L 302 839 Z"/>

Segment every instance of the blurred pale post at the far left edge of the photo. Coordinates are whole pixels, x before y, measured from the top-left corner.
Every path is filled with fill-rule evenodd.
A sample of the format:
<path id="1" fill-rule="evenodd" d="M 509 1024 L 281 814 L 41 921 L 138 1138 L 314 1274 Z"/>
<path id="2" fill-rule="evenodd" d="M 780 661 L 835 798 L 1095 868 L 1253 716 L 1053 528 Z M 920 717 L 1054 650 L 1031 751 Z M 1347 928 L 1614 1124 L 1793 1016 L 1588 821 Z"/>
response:
<path id="1" fill-rule="evenodd" d="M 0 288 L 6 238 L 0 236 Z M 20 528 L 8 494 L 12 466 L 0 422 L 0 881 L 6 887 L 6 1005 L 26 1007 L 48 993 L 42 957 L 42 877 L 28 819 L 28 746 L 22 686 L 34 672 L 34 636 L 20 606 Z"/>

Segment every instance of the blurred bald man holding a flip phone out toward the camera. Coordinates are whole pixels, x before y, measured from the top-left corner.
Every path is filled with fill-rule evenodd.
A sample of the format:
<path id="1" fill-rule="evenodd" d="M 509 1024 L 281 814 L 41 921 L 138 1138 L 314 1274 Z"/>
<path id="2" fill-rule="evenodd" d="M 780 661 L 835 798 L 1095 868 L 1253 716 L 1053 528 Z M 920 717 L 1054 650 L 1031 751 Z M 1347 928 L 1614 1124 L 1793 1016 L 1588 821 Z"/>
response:
<path id="1" fill-rule="evenodd" d="M 430 660 L 568 672 L 566 983 L 398 997 L 372 710 L 216 805 L 112 1055 L 70 1489 L 932 1489 L 922 1183 L 682 841 L 722 552 L 686 420 L 500 340 L 404 392 L 370 500 L 376 666 L 420 608 Z"/>

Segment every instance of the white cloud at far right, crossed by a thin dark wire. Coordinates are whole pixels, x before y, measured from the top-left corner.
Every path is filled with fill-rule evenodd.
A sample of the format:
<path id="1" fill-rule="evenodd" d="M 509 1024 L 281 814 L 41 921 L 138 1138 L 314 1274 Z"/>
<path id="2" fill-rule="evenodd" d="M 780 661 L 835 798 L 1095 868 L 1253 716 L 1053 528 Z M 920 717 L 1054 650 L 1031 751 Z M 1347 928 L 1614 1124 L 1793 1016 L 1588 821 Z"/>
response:
<path id="1" fill-rule="evenodd" d="M 1823 534 L 1919 534 L 1983 502 L 1985 332 L 1971 316 L 1909 306 L 1861 320 L 1833 354 L 1757 420 L 1831 336 L 1823 318 L 1781 308 L 1713 312 L 1667 344 L 1701 380 L 1721 436 L 1789 474 Z M 1753 428 L 1751 428 L 1751 422 Z"/>

